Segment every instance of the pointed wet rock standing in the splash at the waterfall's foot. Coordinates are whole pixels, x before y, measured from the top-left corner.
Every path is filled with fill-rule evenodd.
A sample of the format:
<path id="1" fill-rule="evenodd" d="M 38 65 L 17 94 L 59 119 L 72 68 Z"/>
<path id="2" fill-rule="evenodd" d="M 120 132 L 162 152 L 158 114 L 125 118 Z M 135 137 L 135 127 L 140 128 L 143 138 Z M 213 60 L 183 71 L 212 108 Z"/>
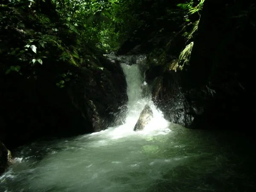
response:
<path id="1" fill-rule="evenodd" d="M 143 110 L 140 113 L 140 117 L 134 126 L 134 131 L 141 131 L 144 129 L 145 125 L 148 124 L 148 122 L 152 119 L 153 117 L 153 111 L 149 107 L 149 105 L 145 105 Z"/>

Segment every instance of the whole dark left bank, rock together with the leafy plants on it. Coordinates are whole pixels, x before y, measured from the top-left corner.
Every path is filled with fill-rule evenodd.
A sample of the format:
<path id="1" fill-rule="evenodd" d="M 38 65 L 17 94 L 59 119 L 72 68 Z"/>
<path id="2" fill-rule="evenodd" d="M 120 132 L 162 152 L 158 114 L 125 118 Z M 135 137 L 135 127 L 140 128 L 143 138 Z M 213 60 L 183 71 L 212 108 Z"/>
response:
<path id="1" fill-rule="evenodd" d="M 118 124 L 116 114 L 127 102 L 119 63 L 68 27 L 49 31 L 59 21 L 55 8 L 49 9 L 34 17 L 32 7 L 0 5 L 6 19 L 0 25 L 0 140 L 9 149 L 42 137 L 75 136 Z M 42 24 L 48 17 L 49 25 Z M 38 34 L 46 37 L 43 43 Z M 36 43 L 28 51 L 24 44 L 30 40 Z"/>

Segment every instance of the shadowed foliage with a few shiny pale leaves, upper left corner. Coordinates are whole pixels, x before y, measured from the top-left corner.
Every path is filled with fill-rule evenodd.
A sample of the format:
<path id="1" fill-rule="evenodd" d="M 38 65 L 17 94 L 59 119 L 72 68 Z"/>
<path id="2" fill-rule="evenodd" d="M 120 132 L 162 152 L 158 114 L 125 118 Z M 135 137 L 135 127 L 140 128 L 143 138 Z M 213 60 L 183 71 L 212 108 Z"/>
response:
<path id="1" fill-rule="evenodd" d="M 54 65 L 49 73 L 55 73 L 54 68 L 61 71 L 64 64 L 79 66 L 80 52 L 76 47 L 66 45 L 67 42 L 76 44 L 75 36 L 64 38 L 77 34 L 78 30 L 72 24 L 60 21 L 58 15 L 45 15 L 32 1 L 0 5 L 0 73 L 38 79 L 38 76 L 46 75 L 41 66 L 50 65 L 52 61 Z"/>

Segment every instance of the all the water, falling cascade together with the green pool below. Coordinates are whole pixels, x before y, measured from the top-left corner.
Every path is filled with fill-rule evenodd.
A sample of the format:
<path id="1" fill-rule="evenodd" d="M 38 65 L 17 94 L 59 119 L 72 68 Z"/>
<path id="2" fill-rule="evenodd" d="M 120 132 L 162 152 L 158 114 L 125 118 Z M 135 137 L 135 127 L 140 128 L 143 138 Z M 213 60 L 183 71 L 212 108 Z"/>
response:
<path id="1" fill-rule="evenodd" d="M 167 122 L 143 94 L 139 65 L 123 63 L 122 68 L 129 99 L 123 125 L 20 147 L 15 162 L 0 176 L 1 192 L 255 191 L 254 173 L 243 175 L 236 166 L 250 165 L 250 159 L 239 155 L 244 151 L 236 143 L 241 134 L 189 130 Z M 154 118 L 135 132 L 145 104 Z"/>

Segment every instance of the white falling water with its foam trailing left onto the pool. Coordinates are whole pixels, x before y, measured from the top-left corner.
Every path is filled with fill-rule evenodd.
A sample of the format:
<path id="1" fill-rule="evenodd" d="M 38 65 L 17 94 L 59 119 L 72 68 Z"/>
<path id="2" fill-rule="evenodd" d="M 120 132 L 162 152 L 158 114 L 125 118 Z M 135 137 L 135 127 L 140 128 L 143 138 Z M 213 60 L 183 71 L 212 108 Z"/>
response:
<path id="1" fill-rule="evenodd" d="M 121 64 L 126 77 L 128 95 L 128 112 L 126 119 L 123 120 L 123 125 L 110 127 L 107 130 L 90 134 L 90 136 L 95 137 L 97 135 L 98 137 L 118 139 L 131 135 L 167 134 L 171 131 L 169 129 L 170 122 L 163 118 L 163 113 L 157 109 L 152 102 L 151 95 L 143 94 L 143 87 L 146 89 L 147 83 L 143 79 L 139 66 L 143 59 L 139 59 L 140 62 L 136 62 L 133 65 L 128 65 L 126 63 Z M 153 118 L 147 125 L 145 125 L 143 131 L 134 132 L 134 126 L 146 104 L 148 104 L 153 111 Z"/>

